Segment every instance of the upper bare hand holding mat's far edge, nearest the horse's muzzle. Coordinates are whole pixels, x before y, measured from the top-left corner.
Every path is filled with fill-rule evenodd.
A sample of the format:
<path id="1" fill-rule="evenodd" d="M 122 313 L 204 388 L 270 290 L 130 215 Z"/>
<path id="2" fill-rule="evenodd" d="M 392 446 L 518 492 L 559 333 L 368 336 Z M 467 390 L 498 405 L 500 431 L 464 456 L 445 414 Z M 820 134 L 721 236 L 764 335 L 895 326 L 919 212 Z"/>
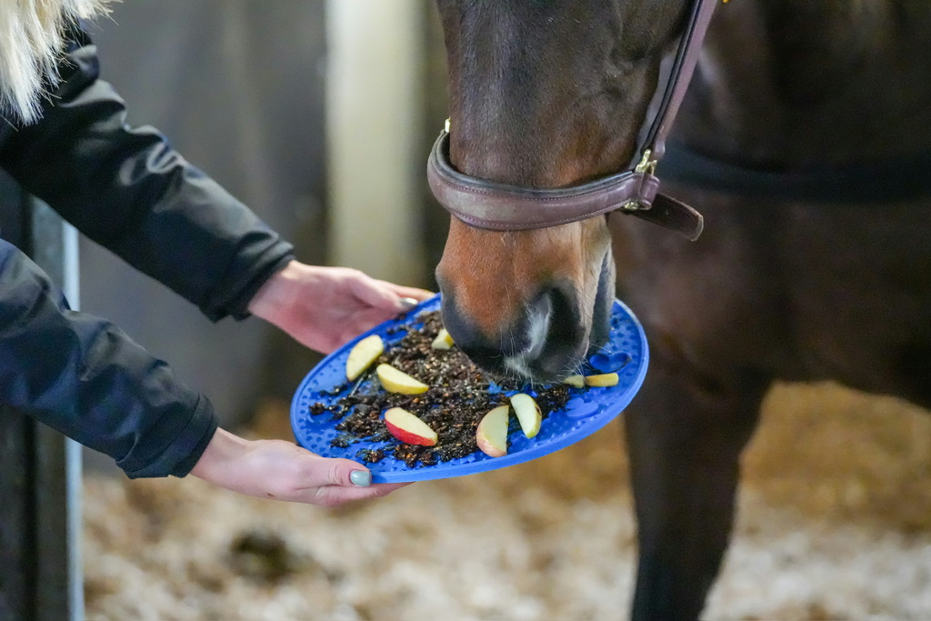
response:
<path id="1" fill-rule="evenodd" d="M 329 354 L 408 310 L 411 300 L 420 302 L 431 295 L 430 291 L 376 280 L 348 267 L 292 261 L 269 278 L 252 298 L 249 310 L 296 341 Z"/>

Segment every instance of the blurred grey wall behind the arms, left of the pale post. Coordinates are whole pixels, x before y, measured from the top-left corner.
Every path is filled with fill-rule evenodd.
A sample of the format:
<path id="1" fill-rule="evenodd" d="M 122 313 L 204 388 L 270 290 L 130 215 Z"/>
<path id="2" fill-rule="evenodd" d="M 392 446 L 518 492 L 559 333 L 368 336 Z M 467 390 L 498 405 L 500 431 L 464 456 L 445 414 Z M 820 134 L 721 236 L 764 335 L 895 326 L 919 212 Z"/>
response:
<path id="1" fill-rule="evenodd" d="M 130 0 L 90 33 L 131 125 L 161 129 L 200 169 L 324 260 L 324 3 Z M 268 372 L 281 335 L 256 318 L 212 324 L 193 304 L 92 242 L 81 247 L 82 310 L 114 319 L 214 401 L 232 425 L 273 386 L 296 387 L 312 355 Z M 304 357 L 304 358 L 302 358 Z M 304 360 L 304 361 L 302 361 Z"/>

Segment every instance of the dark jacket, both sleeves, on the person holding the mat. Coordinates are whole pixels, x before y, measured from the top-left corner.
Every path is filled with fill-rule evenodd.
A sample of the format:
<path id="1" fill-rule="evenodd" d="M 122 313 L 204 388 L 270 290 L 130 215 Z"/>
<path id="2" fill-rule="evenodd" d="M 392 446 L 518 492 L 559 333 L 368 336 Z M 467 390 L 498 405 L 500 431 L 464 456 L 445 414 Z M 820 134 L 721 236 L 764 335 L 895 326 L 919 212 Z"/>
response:
<path id="1" fill-rule="evenodd" d="M 0 168 L 85 235 L 196 304 L 246 317 L 292 249 L 155 129 L 130 128 L 75 30 L 34 125 L 0 124 Z M 0 240 L 0 402 L 112 456 L 129 477 L 184 476 L 216 430 L 209 400 L 112 323 L 70 310 Z"/>

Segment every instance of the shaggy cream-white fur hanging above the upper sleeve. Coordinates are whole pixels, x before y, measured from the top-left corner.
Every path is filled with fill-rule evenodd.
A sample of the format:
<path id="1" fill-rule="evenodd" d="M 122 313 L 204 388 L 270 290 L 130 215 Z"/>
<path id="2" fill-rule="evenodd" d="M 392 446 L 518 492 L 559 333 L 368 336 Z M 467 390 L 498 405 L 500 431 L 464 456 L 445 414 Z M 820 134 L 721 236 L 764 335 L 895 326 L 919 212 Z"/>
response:
<path id="1" fill-rule="evenodd" d="M 0 0 L 0 115 L 32 123 L 44 82 L 58 80 L 62 29 L 106 12 L 108 0 Z"/>

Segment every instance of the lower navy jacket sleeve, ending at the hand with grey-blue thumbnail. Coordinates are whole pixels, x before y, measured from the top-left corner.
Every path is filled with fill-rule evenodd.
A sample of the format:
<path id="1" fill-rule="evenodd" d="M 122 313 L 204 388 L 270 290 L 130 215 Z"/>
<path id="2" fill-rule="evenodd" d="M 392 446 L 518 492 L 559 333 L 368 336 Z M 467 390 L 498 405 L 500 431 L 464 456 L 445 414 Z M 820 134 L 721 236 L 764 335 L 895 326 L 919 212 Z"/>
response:
<path id="1" fill-rule="evenodd" d="M 216 431 L 207 398 L 61 291 L 0 239 L 0 402 L 116 460 L 128 477 L 183 477 Z"/>

